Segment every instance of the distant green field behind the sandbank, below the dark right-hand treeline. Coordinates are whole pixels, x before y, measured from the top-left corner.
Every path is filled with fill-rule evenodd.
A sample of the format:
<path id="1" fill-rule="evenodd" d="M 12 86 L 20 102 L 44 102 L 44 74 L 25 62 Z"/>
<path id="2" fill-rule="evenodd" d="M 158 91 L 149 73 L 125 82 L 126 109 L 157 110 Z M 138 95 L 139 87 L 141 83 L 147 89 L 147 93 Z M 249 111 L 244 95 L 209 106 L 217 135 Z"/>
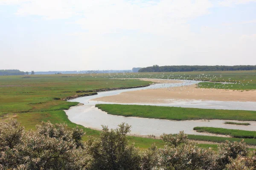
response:
<path id="1" fill-rule="evenodd" d="M 190 71 L 190 72 L 151 72 L 106 75 L 109 78 L 158 78 L 158 79 L 189 79 L 210 82 L 233 82 L 236 84 L 216 85 L 216 83 L 199 83 L 202 88 L 223 88 L 232 90 L 255 90 L 256 70 L 253 71 Z M 251 81 L 252 80 L 252 81 Z M 240 82 L 239 82 L 240 81 Z M 240 84 L 239 84 L 240 83 Z M 209 84 L 209 85 L 208 85 Z M 215 87 L 214 87 L 215 86 Z"/>

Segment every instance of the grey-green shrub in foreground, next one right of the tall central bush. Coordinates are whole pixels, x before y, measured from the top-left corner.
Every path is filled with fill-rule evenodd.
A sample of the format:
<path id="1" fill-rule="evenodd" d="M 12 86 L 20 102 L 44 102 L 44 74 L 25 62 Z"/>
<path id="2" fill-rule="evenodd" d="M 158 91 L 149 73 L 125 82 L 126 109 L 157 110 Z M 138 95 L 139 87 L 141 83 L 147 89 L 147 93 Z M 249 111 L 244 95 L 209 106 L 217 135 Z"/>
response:
<path id="1" fill-rule="evenodd" d="M 163 134 L 166 143 L 159 150 L 160 168 L 164 170 L 210 170 L 214 162 L 214 152 L 202 149 L 188 142 L 187 136 L 181 131 L 178 134 Z"/>

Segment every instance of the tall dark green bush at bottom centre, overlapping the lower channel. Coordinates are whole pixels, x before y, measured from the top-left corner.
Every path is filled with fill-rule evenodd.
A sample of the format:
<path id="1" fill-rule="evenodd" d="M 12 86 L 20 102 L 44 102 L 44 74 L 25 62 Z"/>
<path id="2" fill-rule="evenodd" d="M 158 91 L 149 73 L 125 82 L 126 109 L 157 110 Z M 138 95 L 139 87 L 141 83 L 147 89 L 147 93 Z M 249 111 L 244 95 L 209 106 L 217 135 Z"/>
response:
<path id="1" fill-rule="evenodd" d="M 85 143 L 86 152 L 93 157 L 92 170 L 139 170 L 140 155 L 134 144 L 128 145 L 131 126 L 122 123 L 116 129 L 102 126 L 98 139 Z"/>

